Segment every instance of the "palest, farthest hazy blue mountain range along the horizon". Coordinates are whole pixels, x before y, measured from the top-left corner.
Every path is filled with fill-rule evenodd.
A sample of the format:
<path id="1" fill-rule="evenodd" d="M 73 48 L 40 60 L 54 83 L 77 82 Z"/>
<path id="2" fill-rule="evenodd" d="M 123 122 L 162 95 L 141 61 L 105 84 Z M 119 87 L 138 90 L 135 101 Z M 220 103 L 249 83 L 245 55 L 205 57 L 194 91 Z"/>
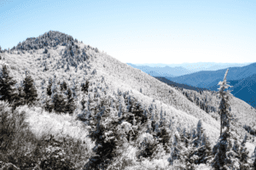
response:
<path id="1" fill-rule="evenodd" d="M 183 64 L 131 64 L 133 68 L 137 68 L 152 77 L 179 77 L 191 74 L 198 71 L 217 71 L 234 66 L 245 66 L 250 63 L 213 63 L 213 62 L 199 62 L 199 63 L 183 63 Z"/>

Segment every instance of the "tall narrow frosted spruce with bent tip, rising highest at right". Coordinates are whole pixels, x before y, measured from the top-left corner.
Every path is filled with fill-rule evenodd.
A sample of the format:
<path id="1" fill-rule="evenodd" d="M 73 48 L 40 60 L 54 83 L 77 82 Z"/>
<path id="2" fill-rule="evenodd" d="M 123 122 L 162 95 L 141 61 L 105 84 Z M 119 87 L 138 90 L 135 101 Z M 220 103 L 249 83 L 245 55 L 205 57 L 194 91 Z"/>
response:
<path id="1" fill-rule="evenodd" d="M 232 150 L 232 144 L 230 140 L 230 121 L 232 119 L 230 114 L 230 105 L 229 97 L 230 91 L 224 91 L 227 88 L 230 88 L 230 85 L 226 82 L 226 77 L 229 69 L 224 75 L 224 81 L 218 82 L 220 86 L 218 95 L 221 98 L 219 104 L 219 114 L 220 114 L 220 136 L 217 144 L 212 149 L 212 155 L 214 156 L 212 160 L 212 167 L 214 169 L 227 170 L 232 167 L 232 158 L 229 154 Z"/>

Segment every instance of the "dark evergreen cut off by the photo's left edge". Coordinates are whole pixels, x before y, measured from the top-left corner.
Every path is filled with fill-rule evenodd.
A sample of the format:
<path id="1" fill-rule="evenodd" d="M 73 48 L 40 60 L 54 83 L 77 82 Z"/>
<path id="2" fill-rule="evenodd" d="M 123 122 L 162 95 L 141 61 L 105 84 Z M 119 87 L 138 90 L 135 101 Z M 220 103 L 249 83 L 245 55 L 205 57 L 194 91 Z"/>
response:
<path id="1" fill-rule="evenodd" d="M 7 65 L 0 70 L 0 100 L 12 103 L 16 98 L 15 83 L 13 77 L 9 76 Z"/>

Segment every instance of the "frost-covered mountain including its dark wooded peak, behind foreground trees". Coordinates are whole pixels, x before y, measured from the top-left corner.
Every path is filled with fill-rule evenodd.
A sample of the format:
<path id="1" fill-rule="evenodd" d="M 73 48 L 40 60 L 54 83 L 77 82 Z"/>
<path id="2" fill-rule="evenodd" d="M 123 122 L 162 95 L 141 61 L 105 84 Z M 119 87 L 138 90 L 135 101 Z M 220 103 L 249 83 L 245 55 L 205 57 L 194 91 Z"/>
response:
<path id="1" fill-rule="evenodd" d="M 81 120 L 84 121 L 82 122 L 84 123 L 83 126 L 86 127 L 84 131 L 88 133 L 90 129 L 96 128 L 92 126 L 93 123 L 90 127 L 88 122 L 96 121 L 98 114 L 102 114 L 102 117 L 104 117 L 104 114 L 112 114 L 113 117 L 128 122 L 129 119 L 125 117 L 128 117 L 132 112 L 135 120 L 133 128 L 137 129 L 135 143 L 141 138 L 144 139 L 143 135 L 146 134 L 154 136 L 154 140 L 160 142 L 157 137 L 156 124 L 154 124 L 154 133 L 146 133 L 143 130 L 147 126 L 143 124 L 142 115 L 147 115 L 148 120 L 150 119 L 154 123 L 167 120 L 169 122 L 168 127 L 166 125 L 165 127 L 172 129 L 172 135 L 175 135 L 175 132 L 181 135 L 184 133 L 191 133 L 192 135 L 193 129 L 201 120 L 202 127 L 205 129 L 211 145 L 213 146 L 218 140 L 220 123 L 216 118 L 218 117 L 218 111 L 216 110 L 218 110 L 220 99 L 217 94 L 204 94 L 207 98 L 205 102 L 212 102 L 211 105 L 215 107 L 215 111 L 210 113 L 196 105 L 196 101 L 191 102 L 177 88 L 168 86 L 147 73 L 122 63 L 99 49 L 85 45 L 83 42 L 61 32 L 49 31 L 39 37 L 27 38 L 26 41 L 20 42 L 15 48 L 2 52 L 1 56 L 1 65 L 8 65 L 10 74 L 18 82 L 17 86 L 22 85 L 22 79 L 25 77 L 26 71 L 29 71 L 35 80 L 39 98 L 38 107 L 36 107 L 35 111 L 38 111 L 38 108 L 43 108 L 40 110 L 43 111 L 46 100 L 50 100 L 50 96 L 46 93 L 46 87 L 49 86 L 49 77 L 54 80 L 53 86 L 58 89 L 56 91 L 64 96 L 66 94 L 59 90 L 59 86 L 62 82 L 67 82 L 67 87 L 73 90 L 73 98 L 76 105 L 73 116 L 76 117 L 79 123 L 81 123 Z M 83 93 L 81 86 L 86 81 L 89 82 L 90 86 L 88 92 Z M 52 93 L 54 93 L 53 90 Z M 195 99 L 199 96 L 201 94 L 196 94 L 196 92 L 193 94 Z M 131 104 L 129 102 L 132 99 L 136 104 L 132 105 L 134 109 L 130 111 Z M 82 104 L 82 100 L 86 101 L 85 106 Z M 111 106 L 108 107 L 108 105 Z M 103 106 L 104 109 L 102 109 Z M 24 107 L 21 107 L 20 110 L 24 110 Z M 26 110 L 28 109 L 26 108 Z M 141 115 L 139 111 L 142 111 Z M 238 139 L 242 139 L 246 132 L 243 128 L 244 125 L 255 127 L 256 111 L 246 102 L 234 96 L 230 97 L 230 111 L 231 114 L 236 115 L 238 118 L 236 122 L 237 131 L 235 133 Z M 33 111 L 28 112 L 34 113 Z M 45 112 L 45 114 L 48 114 L 47 111 Z M 48 117 L 50 117 L 49 115 Z M 92 118 L 89 118 L 90 116 Z M 95 117 L 93 118 L 93 116 Z M 30 114 L 27 122 L 30 123 L 32 132 L 38 133 L 38 124 L 34 123 L 32 117 L 34 116 Z M 37 120 L 40 121 L 40 119 Z M 107 117 L 105 121 L 109 123 L 113 119 L 108 120 Z M 60 124 L 61 122 L 59 124 L 55 123 L 53 127 L 59 126 L 60 128 L 54 128 L 55 131 L 50 131 L 50 133 L 55 133 L 55 136 L 58 136 L 61 132 L 65 132 L 63 129 L 61 131 Z M 41 130 L 44 131 L 43 129 Z M 109 131 L 109 133 L 111 132 Z M 65 135 L 67 134 L 66 132 Z M 250 134 L 248 135 L 253 138 Z M 73 136 L 73 138 L 80 138 L 79 135 Z M 83 138 L 86 141 L 90 141 L 89 137 L 84 137 L 83 135 Z M 250 144 L 253 144 L 253 140 L 250 140 Z M 135 145 L 131 144 L 130 146 L 133 147 L 133 150 L 140 150 Z M 92 144 L 88 148 L 91 149 Z M 168 157 L 170 157 L 170 153 L 166 153 L 166 156 L 162 156 L 159 159 L 166 163 L 168 162 Z M 137 160 L 137 157 L 135 156 L 132 159 Z M 135 162 L 131 161 L 131 165 L 135 166 Z M 168 167 L 165 163 L 164 165 Z M 153 163 L 151 166 L 155 166 L 155 164 L 157 163 Z"/>

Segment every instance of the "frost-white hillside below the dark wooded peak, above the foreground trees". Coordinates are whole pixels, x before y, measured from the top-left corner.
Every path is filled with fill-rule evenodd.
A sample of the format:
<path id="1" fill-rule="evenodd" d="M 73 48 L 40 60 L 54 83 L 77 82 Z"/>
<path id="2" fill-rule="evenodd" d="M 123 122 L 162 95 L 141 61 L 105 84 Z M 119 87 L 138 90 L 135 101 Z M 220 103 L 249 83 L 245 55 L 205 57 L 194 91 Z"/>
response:
<path id="1" fill-rule="evenodd" d="M 45 33 L 47 35 L 47 33 Z M 71 37 L 70 37 L 71 39 Z M 26 47 L 28 42 L 35 41 L 27 39 L 20 44 L 20 47 Z M 24 45 L 23 45 L 24 44 Z M 25 71 L 31 72 L 34 78 L 38 94 L 43 100 L 43 91 L 41 89 L 42 79 L 47 81 L 49 77 L 55 75 L 56 82 L 67 80 L 69 86 L 79 85 L 84 79 L 90 81 L 90 89 L 102 86 L 108 87 L 107 95 L 113 96 L 113 92 L 117 93 L 118 89 L 122 92 L 132 91 L 133 95 L 142 105 L 151 105 L 155 99 L 154 105 L 158 111 L 162 108 L 166 111 L 168 120 L 173 119 L 177 122 L 178 127 L 195 127 L 199 119 L 202 119 L 207 133 L 209 133 L 212 144 L 218 139 L 219 123 L 209 116 L 205 111 L 202 111 L 195 104 L 191 103 L 175 88 L 166 85 L 164 82 L 156 80 L 148 74 L 134 69 L 131 66 L 120 62 L 117 59 L 104 53 L 96 53 L 96 48 L 91 48 L 81 42 L 74 42 L 72 47 L 81 50 L 81 54 L 76 58 L 67 58 L 69 48 L 66 46 L 56 45 L 55 47 L 47 47 L 48 52 L 44 54 L 45 49 L 37 50 L 18 50 L 11 53 L 5 53 L 3 61 L 12 69 L 12 74 L 15 79 L 20 82 L 22 77 L 25 77 Z M 86 57 L 85 62 L 79 60 L 79 56 Z M 81 57 L 81 58 L 82 58 Z M 72 60 L 73 65 L 67 66 L 67 60 Z M 75 66 L 77 65 L 77 66 Z M 63 67 L 63 68 L 62 68 Z M 84 74 L 85 73 L 85 74 Z M 103 84 L 102 77 L 104 79 Z M 94 85 L 95 84 L 95 85 Z M 140 89 L 142 88 L 142 93 Z M 93 95 L 93 94 L 92 94 Z M 80 94 L 77 97 L 76 104 L 79 105 L 79 100 L 84 96 Z"/>

